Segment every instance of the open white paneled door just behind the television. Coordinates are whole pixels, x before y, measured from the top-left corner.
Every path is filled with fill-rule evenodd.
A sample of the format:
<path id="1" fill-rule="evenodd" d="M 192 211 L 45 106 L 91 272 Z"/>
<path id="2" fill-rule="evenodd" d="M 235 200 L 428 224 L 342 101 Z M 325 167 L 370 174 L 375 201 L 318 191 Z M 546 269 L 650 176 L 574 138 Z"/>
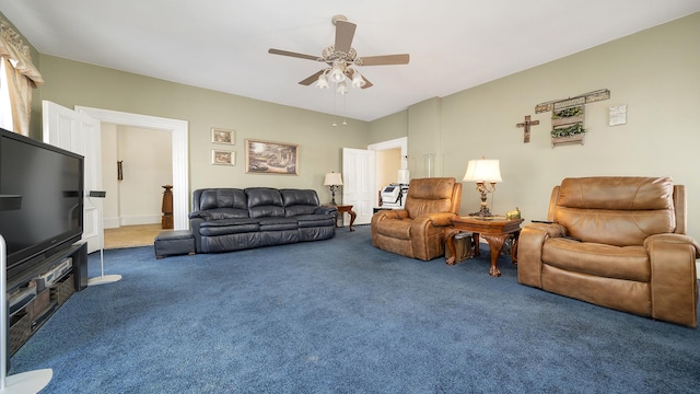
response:
<path id="1" fill-rule="evenodd" d="M 44 142 L 82 154 L 85 158 L 85 197 L 83 201 L 83 241 L 88 253 L 101 248 L 104 236 L 102 199 L 89 198 L 90 190 L 102 190 L 100 121 L 90 116 L 43 101 Z"/>

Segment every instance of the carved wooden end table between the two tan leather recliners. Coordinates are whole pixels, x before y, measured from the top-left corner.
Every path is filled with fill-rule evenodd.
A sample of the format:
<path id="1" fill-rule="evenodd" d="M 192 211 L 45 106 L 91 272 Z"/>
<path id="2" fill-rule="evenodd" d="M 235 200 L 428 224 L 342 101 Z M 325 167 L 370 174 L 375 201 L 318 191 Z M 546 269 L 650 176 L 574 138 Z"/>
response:
<path id="1" fill-rule="evenodd" d="M 517 237 L 521 234 L 521 223 L 525 219 L 505 219 L 502 217 L 483 218 L 479 217 L 456 217 L 452 219 L 452 229 L 447 230 L 445 243 L 452 257 L 446 258 L 445 263 L 455 264 L 455 243 L 454 237 L 462 231 L 474 233 L 474 243 L 476 245 L 475 255 L 479 256 L 479 235 L 481 235 L 489 244 L 491 250 L 491 268 L 489 274 L 494 277 L 501 276 L 498 267 L 499 255 L 503 248 L 505 240 L 513 236 L 513 247 L 511 248 L 511 260 L 517 265 Z"/>

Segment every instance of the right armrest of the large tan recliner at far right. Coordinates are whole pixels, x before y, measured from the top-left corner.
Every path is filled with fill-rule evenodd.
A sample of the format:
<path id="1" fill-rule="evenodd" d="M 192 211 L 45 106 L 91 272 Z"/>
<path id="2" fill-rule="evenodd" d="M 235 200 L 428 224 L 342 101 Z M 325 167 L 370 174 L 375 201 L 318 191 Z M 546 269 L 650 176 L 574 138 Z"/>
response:
<path id="1" fill-rule="evenodd" d="M 651 263 L 652 317 L 698 326 L 698 243 L 684 234 L 644 240 Z"/>

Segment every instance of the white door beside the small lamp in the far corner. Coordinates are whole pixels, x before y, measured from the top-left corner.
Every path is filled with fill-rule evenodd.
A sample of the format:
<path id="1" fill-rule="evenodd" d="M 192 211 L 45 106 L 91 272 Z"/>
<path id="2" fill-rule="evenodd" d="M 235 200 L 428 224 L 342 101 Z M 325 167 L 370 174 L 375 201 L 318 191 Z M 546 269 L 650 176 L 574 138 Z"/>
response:
<path id="1" fill-rule="evenodd" d="M 342 204 L 358 213 L 354 224 L 369 224 L 374 213 L 376 152 L 342 148 Z M 347 220 L 342 221 L 349 223 Z"/>

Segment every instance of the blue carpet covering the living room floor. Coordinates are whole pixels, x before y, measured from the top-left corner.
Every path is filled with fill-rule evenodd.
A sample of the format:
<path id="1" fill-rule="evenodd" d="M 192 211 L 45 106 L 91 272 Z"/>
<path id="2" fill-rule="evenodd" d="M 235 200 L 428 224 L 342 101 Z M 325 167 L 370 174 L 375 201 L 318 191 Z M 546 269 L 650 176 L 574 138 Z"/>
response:
<path id="1" fill-rule="evenodd" d="M 43 393 L 691 393 L 700 331 L 332 240 L 155 259 L 105 251 L 14 355 Z M 90 277 L 100 256 L 90 255 Z"/>

